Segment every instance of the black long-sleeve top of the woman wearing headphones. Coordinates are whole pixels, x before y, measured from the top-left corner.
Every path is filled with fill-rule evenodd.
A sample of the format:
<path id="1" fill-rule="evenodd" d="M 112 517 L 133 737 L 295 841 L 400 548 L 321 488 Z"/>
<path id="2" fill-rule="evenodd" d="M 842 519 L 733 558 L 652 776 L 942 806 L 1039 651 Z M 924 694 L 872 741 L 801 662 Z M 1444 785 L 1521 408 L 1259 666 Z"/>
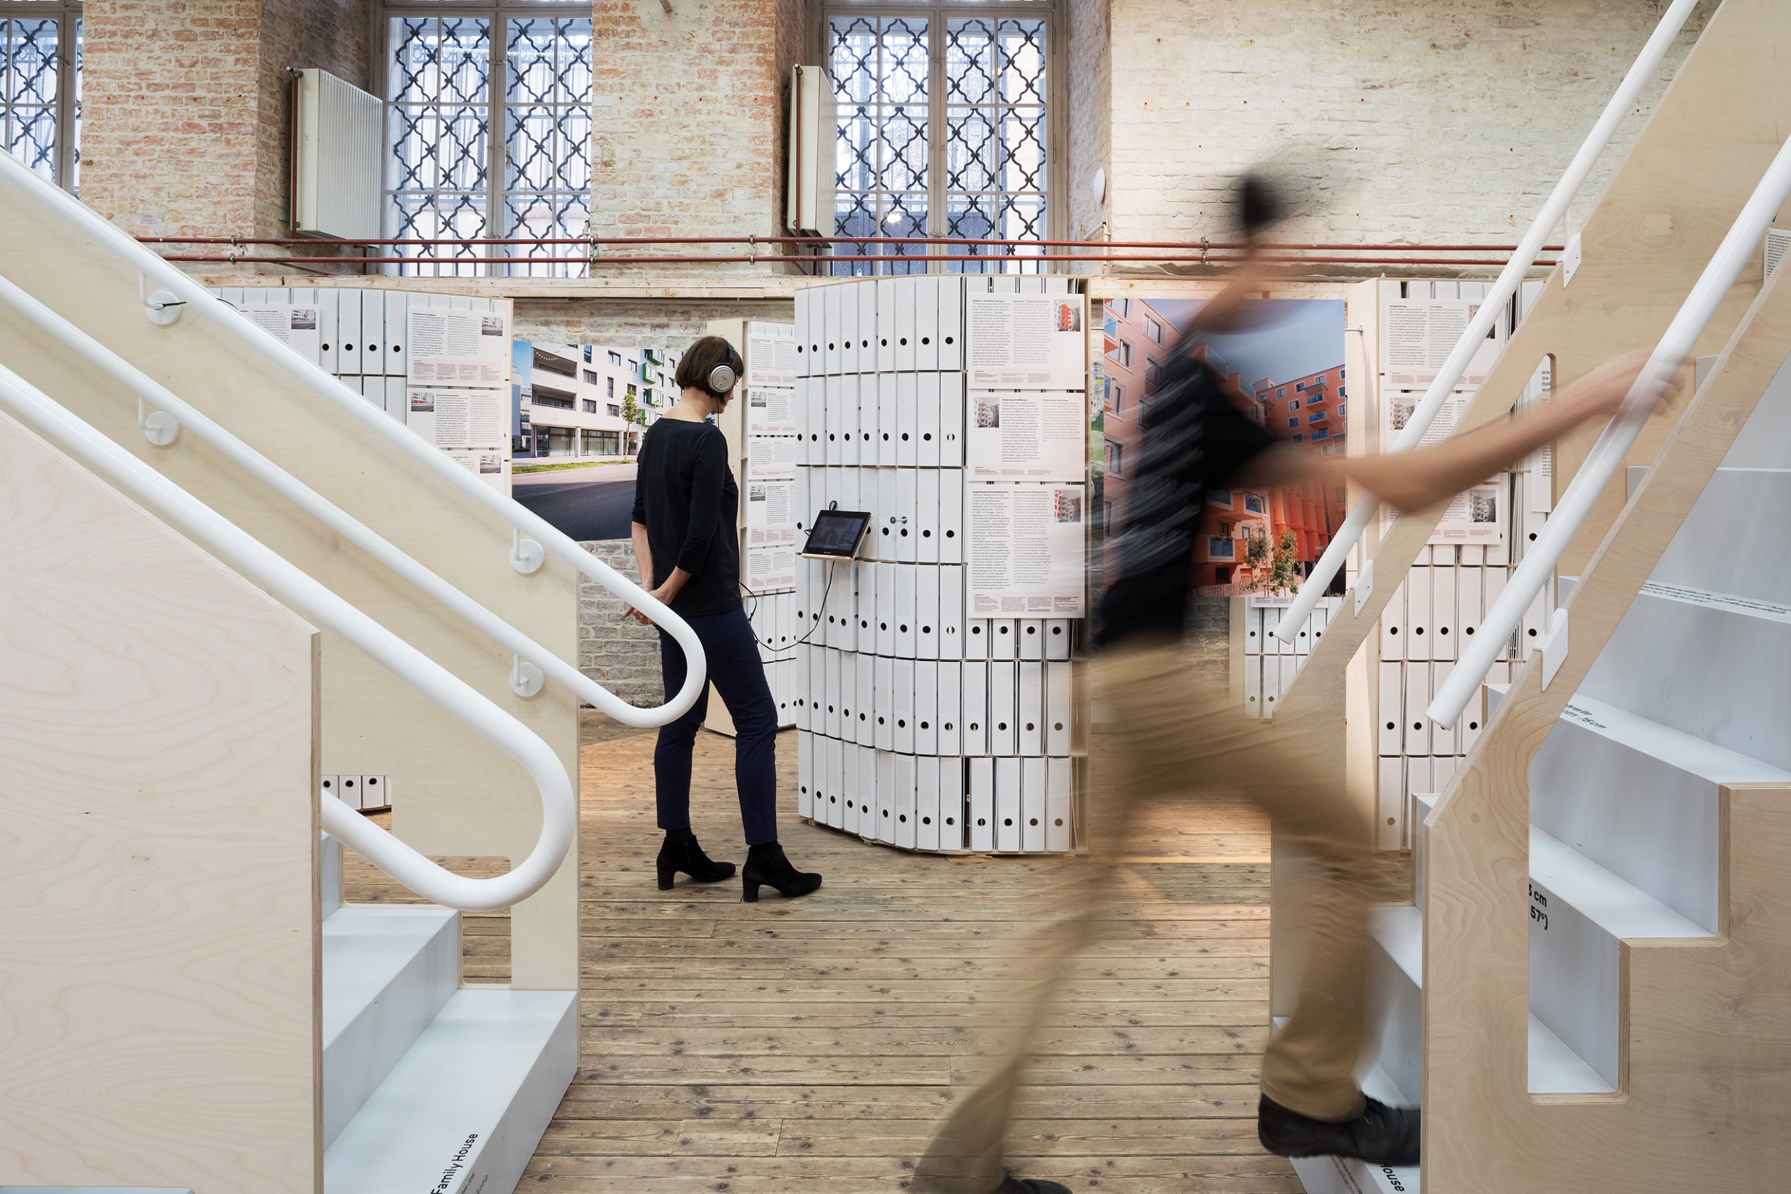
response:
<path id="1" fill-rule="evenodd" d="M 647 528 L 654 585 L 682 567 L 672 598 L 686 618 L 740 609 L 740 487 L 727 467 L 727 437 L 711 422 L 659 419 L 636 455 L 634 521 Z"/>

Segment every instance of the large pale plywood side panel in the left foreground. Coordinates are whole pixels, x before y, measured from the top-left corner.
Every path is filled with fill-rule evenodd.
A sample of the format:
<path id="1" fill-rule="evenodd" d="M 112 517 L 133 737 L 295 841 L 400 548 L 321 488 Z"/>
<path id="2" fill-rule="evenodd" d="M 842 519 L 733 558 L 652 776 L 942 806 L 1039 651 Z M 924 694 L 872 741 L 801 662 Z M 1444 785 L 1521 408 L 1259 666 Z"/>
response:
<path id="1" fill-rule="evenodd" d="M 0 1187 L 312 1194 L 317 635 L 0 415 Z"/>

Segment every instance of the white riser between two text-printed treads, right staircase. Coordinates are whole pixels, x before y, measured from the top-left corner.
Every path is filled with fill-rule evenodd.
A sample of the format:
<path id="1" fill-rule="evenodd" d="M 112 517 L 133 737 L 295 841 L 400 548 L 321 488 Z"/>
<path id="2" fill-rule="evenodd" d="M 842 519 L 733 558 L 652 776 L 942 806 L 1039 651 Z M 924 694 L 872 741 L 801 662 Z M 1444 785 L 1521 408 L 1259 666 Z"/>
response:
<path id="1" fill-rule="evenodd" d="M 1644 585 L 1580 691 L 1791 768 L 1791 607 Z"/>

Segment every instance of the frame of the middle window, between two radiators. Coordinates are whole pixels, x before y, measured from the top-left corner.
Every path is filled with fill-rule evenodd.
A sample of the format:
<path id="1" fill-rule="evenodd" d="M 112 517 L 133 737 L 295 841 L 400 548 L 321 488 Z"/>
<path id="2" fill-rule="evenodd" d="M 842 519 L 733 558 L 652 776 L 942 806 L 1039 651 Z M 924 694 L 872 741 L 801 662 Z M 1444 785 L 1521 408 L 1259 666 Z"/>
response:
<path id="1" fill-rule="evenodd" d="M 509 197 L 507 186 L 507 154 L 509 154 L 509 122 L 507 109 L 510 97 L 507 95 L 509 81 L 509 21 L 510 20 L 589 20 L 591 21 L 591 95 L 596 95 L 596 20 L 589 0 L 582 4 L 575 0 L 374 0 L 369 7 L 369 20 L 373 21 L 373 38 L 369 39 L 369 63 L 374 77 L 369 81 L 374 86 L 371 91 L 380 97 L 380 231 L 381 236 L 396 236 L 396 224 L 392 220 L 392 188 L 389 186 L 387 172 L 392 159 L 392 107 L 396 100 L 392 98 L 392 20 L 401 16 L 435 16 L 435 18 L 460 18 L 460 20 L 478 20 L 485 18 L 491 25 L 485 30 L 485 88 L 487 98 L 485 109 L 485 231 L 482 236 L 505 238 L 509 229 L 509 208 L 505 199 Z M 591 129 L 596 124 L 596 109 L 587 100 L 586 116 Z M 586 141 L 586 156 L 589 156 L 589 141 Z M 586 208 L 586 231 L 591 235 L 591 202 L 593 202 L 593 184 L 595 170 L 591 179 L 584 186 L 584 208 Z M 518 193 L 536 193 L 536 192 L 518 192 Z M 559 193 L 559 192 L 553 192 Z M 568 236 L 575 233 L 566 231 Z M 394 245 L 394 256 L 401 256 L 405 245 Z M 419 256 L 446 256 L 442 245 L 433 251 L 419 252 Z M 416 277 L 584 277 L 587 269 L 582 265 L 494 265 L 491 258 L 525 258 L 528 245 L 473 245 L 466 265 L 462 267 L 458 260 L 451 263 L 433 263 L 433 265 L 385 265 L 381 272 L 394 276 L 416 276 Z M 543 256 L 566 258 L 577 256 L 571 245 L 555 245 Z M 407 270 L 412 270 L 407 274 Z"/>

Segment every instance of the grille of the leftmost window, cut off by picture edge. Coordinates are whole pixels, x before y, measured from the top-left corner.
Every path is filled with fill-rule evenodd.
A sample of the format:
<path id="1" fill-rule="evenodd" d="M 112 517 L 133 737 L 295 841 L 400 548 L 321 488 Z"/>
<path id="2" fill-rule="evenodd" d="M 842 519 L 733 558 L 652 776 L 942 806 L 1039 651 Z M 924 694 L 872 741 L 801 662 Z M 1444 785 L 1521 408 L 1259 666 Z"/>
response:
<path id="1" fill-rule="evenodd" d="M 79 193 L 79 0 L 0 0 L 0 149 Z"/>

